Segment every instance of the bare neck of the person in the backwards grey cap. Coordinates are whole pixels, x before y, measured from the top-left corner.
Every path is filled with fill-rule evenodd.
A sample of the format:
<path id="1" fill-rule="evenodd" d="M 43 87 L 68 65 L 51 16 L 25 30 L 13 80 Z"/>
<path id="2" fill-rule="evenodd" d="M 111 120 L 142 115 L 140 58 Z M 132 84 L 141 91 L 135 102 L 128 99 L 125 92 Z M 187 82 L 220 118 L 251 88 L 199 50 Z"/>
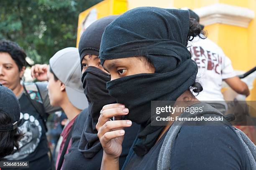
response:
<path id="1" fill-rule="evenodd" d="M 60 107 L 63 109 L 64 113 L 67 115 L 69 121 L 73 120 L 80 112 L 80 109 L 74 107 L 74 105 L 69 101 L 68 97 L 64 97 L 63 102 L 60 104 Z"/>

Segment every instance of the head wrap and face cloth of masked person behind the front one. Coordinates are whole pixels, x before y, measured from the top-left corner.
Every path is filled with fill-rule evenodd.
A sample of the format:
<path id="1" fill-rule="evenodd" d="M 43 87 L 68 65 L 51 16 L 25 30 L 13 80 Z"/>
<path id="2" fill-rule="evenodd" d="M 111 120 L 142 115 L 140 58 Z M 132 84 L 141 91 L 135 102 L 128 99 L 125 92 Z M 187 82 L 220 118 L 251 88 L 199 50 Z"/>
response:
<path id="1" fill-rule="evenodd" d="M 98 55 L 101 36 L 106 26 L 118 15 L 108 16 L 92 23 L 82 34 L 79 41 L 79 53 L 81 62 L 85 55 Z M 84 157 L 94 157 L 101 150 L 100 140 L 97 137 L 96 124 L 100 116 L 100 110 L 106 104 L 116 103 L 116 99 L 108 94 L 106 83 L 110 81 L 108 74 L 100 69 L 89 66 L 82 74 L 84 94 L 89 103 L 88 117 L 84 124 L 78 150 Z"/>

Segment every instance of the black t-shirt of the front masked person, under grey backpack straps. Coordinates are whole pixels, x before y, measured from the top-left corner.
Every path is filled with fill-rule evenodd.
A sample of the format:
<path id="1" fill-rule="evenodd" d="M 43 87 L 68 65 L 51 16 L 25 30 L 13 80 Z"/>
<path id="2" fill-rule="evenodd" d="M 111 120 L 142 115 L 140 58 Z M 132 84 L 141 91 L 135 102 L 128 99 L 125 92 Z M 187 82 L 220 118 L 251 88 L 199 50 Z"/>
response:
<path id="1" fill-rule="evenodd" d="M 250 170 L 248 156 L 232 127 L 182 126 L 171 153 L 171 170 Z M 156 170 L 166 133 L 139 157 L 130 150 L 124 170 Z"/>

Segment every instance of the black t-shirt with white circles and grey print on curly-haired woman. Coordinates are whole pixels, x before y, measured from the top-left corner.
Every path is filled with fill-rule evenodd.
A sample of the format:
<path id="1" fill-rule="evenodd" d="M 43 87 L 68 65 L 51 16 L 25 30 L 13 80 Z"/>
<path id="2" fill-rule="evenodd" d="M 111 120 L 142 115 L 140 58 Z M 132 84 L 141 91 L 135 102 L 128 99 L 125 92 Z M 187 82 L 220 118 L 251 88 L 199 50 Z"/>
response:
<path id="1" fill-rule="evenodd" d="M 44 109 L 47 113 L 52 113 L 60 110 L 59 107 L 52 107 L 50 105 L 48 90 L 46 88 L 47 83 L 36 83 L 38 85 L 39 92 L 35 92 L 31 95 L 41 96 L 38 102 L 42 102 Z M 20 150 L 12 155 L 4 157 L 4 160 L 9 161 L 29 161 L 29 168 L 18 168 L 19 170 L 50 170 L 51 162 L 48 156 L 48 145 L 46 138 L 46 129 L 44 127 L 43 120 L 40 114 L 31 104 L 24 93 L 18 96 L 20 102 L 20 118 L 22 123 L 20 131 L 24 134 L 19 141 Z M 17 168 L 8 168 L 8 170 L 14 170 Z"/>

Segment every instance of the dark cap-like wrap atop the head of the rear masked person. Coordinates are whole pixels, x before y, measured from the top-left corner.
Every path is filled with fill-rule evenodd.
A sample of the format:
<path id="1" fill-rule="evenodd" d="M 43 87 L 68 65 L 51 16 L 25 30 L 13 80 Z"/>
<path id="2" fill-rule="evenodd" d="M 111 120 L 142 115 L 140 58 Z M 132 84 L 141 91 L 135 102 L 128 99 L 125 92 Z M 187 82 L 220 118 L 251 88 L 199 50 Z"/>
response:
<path id="1" fill-rule="evenodd" d="M 81 62 L 85 55 L 99 56 L 102 34 L 106 26 L 118 17 L 119 15 L 110 15 L 100 18 L 84 30 L 78 44 Z"/>

